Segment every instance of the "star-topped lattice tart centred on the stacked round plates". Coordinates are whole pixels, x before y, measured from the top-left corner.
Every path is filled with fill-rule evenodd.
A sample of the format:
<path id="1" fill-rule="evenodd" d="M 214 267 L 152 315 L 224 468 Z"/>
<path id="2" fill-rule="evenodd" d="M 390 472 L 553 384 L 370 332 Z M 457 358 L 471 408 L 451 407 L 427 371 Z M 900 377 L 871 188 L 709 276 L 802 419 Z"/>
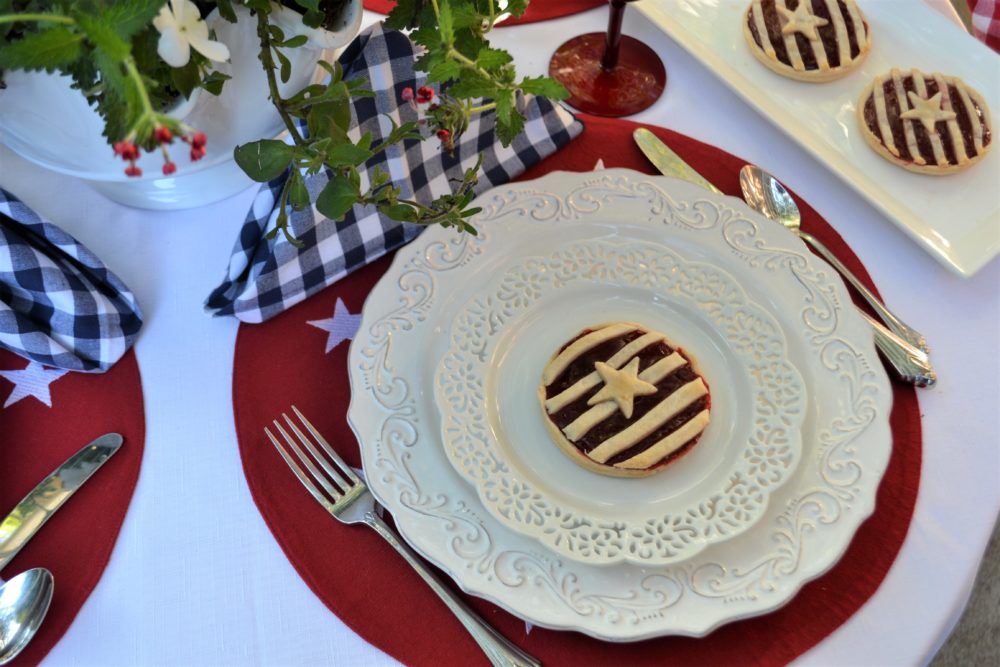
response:
<path id="1" fill-rule="evenodd" d="M 615 477 L 662 470 L 697 443 L 709 422 L 708 385 L 691 357 L 631 322 L 585 329 L 542 371 L 546 428 L 583 467 Z"/>

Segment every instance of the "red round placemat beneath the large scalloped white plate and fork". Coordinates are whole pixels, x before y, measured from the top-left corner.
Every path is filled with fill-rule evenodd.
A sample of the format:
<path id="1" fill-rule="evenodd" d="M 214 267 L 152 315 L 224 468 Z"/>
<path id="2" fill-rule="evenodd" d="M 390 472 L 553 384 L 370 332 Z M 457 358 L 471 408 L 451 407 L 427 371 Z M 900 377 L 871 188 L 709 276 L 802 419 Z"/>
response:
<path id="1" fill-rule="evenodd" d="M 607 167 L 653 173 L 632 142 L 635 123 L 580 118 L 586 125 L 583 134 L 524 179 L 558 169 L 590 170 L 598 158 Z M 738 171 L 744 160 L 670 130 L 651 129 L 724 192 L 739 192 Z M 808 204 L 799 204 L 803 227 L 871 286 L 840 236 Z M 356 329 L 354 315 L 361 312 L 390 261 L 385 257 L 353 273 L 265 324 L 240 326 L 233 404 L 243 468 L 257 507 L 292 565 L 359 635 L 407 664 L 484 664 L 458 622 L 392 549 L 374 532 L 342 526 L 327 515 L 263 435 L 269 420 L 294 403 L 349 463 L 360 465 L 346 421 L 350 387 L 345 337 Z M 920 481 L 920 413 L 912 387 L 894 382 L 893 398 L 892 458 L 875 514 L 858 530 L 839 563 L 778 611 L 729 623 L 702 639 L 611 644 L 574 632 L 534 628 L 527 633 L 523 621 L 498 607 L 478 599 L 471 602 L 545 664 L 785 664 L 833 632 L 871 597 L 906 536 Z M 331 553 L 337 554 L 337 565 Z"/>

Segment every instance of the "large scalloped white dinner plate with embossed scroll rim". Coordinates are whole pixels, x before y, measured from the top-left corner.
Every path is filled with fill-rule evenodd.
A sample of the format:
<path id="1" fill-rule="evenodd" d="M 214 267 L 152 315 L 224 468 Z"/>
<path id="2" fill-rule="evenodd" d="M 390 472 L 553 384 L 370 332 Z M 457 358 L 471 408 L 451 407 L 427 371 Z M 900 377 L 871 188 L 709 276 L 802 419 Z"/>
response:
<path id="1" fill-rule="evenodd" d="M 407 541 L 472 594 L 534 624 L 611 641 L 704 635 L 779 607 L 832 566 L 874 509 L 892 442 L 888 380 L 871 331 L 836 273 L 739 200 L 665 177 L 558 172 L 495 188 L 478 202 L 478 236 L 431 228 L 397 253 L 351 345 L 348 419 L 369 485 Z M 742 534 L 680 562 L 596 565 L 557 553 L 486 511 L 441 442 L 435 372 L 451 345 L 451 323 L 476 296 L 481 276 L 499 276 L 525 257 L 574 242 L 660 246 L 734 277 L 780 327 L 784 356 L 806 387 L 794 472 Z M 611 319 L 634 316 L 641 302 L 652 325 L 665 327 L 684 310 L 683 299 L 655 284 L 600 283 L 592 287 Z M 563 314 L 567 326 L 576 326 L 590 321 L 593 308 Z M 693 310 L 686 316 L 698 319 Z M 714 335 L 711 327 L 699 331 Z M 546 354 L 549 342 L 539 338 Z M 715 343 L 726 347 L 721 336 Z M 510 351 L 521 345 L 511 341 Z M 711 344 L 701 345 L 711 365 Z M 501 367 L 508 363 L 516 375 L 517 360 Z M 537 378 L 530 382 L 534 392 Z M 732 392 L 733 400 L 740 395 Z M 542 474 L 545 465 L 565 463 L 554 445 L 538 444 L 549 459 L 538 464 Z M 635 480 L 602 481 L 620 482 L 617 492 L 626 494 Z"/>

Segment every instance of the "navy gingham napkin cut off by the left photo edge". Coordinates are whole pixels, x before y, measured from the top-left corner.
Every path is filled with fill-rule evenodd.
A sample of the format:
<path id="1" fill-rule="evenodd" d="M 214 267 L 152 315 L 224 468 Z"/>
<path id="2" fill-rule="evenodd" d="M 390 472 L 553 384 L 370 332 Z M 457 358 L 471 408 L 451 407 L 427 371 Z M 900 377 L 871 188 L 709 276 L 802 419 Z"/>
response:
<path id="1" fill-rule="evenodd" d="M 0 189 L 0 347 L 103 372 L 142 325 L 132 292 L 72 236 Z"/>

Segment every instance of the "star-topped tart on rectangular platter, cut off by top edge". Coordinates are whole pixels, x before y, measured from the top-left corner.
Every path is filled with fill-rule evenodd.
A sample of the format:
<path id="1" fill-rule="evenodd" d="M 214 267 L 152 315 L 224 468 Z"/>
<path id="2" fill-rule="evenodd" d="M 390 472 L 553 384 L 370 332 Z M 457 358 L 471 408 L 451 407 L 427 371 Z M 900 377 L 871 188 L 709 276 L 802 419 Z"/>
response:
<path id="1" fill-rule="evenodd" d="M 813 83 L 845 76 L 871 49 L 868 22 L 854 0 L 753 0 L 743 36 L 768 68 Z"/>

